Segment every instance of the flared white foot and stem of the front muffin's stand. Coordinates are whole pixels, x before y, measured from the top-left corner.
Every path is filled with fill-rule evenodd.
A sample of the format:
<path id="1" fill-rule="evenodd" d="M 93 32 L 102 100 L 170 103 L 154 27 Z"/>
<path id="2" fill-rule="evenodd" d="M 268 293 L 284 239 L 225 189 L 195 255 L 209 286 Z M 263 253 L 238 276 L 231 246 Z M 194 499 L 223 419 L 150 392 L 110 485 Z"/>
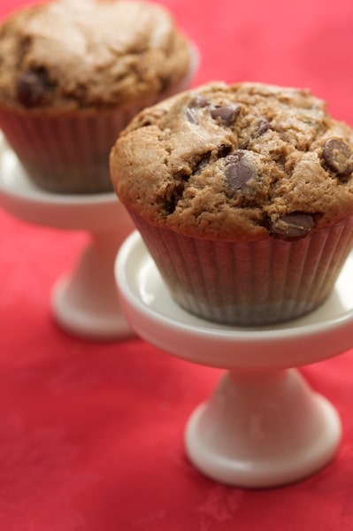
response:
<path id="1" fill-rule="evenodd" d="M 341 421 L 296 370 L 226 373 L 188 420 L 185 439 L 191 462 L 211 479 L 268 488 L 329 463 L 341 440 Z"/>

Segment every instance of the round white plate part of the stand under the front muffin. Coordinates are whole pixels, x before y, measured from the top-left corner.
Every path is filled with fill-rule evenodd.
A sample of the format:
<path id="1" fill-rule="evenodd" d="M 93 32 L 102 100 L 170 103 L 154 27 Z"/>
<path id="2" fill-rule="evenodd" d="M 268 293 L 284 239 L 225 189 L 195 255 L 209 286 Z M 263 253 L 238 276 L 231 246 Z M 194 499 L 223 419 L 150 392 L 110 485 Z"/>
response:
<path id="1" fill-rule="evenodd" d="M 206 366 L 288 368 L 332 358 L 353 344 L 353 253 L 315 312 L 273 327 L 229 327 L 185 312 L 169 295 L 141 236 L 119 250 L 115 275 L 127 319 L 163 350 Z"/>

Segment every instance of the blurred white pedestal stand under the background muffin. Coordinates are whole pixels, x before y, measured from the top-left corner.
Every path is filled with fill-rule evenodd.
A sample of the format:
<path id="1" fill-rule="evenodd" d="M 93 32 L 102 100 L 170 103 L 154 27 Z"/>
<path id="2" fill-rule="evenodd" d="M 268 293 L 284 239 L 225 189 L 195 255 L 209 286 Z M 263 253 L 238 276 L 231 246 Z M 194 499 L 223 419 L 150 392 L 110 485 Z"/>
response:
<path id="1" fill-rule="evenodd" d="M 61 195 L 37 189 L 1 138 L 0 206 L 30 223 L 91 235 L 75 270 L 52 291 L 52 312 L 61 327 L 99 340 L 132 335 L 119 305 L 114 260 L 134 226 L 115 193 Z"/>

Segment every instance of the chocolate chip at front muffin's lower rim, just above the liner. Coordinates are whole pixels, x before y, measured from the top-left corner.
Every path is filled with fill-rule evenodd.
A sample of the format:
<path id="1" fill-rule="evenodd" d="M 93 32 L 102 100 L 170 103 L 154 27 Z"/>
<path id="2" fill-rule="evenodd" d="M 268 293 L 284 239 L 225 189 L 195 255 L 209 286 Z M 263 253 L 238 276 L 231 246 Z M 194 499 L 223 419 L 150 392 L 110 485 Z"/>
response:
<path id="1" fill-rule="evenodd" d="M 291 212 L 280 216 L 272 223 L 271 232 L 282 240 L 300 240 L 305 237 L 314 226 L 312 214 L 306 212 Z"/>

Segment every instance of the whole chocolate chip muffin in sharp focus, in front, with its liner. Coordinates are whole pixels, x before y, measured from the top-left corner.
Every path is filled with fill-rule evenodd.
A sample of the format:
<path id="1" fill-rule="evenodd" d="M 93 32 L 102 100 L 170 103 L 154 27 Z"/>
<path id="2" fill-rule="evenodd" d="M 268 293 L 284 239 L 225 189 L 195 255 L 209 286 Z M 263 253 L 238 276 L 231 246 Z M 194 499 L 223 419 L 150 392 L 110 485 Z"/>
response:
<path id="1" fill-rule="evenodd" d="M 111 180 L 175 301 L 233 326 L 325 301 L 353 243 L 353 131 L 307 90 L 210 83 L 141 112 Z"/>

